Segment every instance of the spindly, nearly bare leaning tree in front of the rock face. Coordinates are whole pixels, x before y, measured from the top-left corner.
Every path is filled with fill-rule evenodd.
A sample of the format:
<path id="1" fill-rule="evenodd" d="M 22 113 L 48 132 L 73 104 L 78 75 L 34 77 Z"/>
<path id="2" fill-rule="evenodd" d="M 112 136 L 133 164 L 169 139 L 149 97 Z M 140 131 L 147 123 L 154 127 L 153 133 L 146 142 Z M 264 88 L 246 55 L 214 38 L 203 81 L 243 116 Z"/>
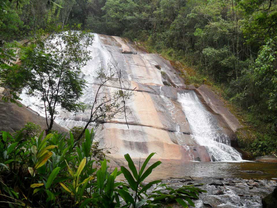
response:
<path id="1" fill-rule="evenodd" d="M 78 140 L 82 138 L 87 128 L 100 123 L 123 120 L 128 126 L 127 116 L 131 113 L 131 109 L 126 104 L 134 95 L 129 80 L 125 79 L 121 69 L 111 60 L 107 66 L 101 64 L 96 73 L 96 81 L 92 84 L 96 86 L 95 96 L 91 105 L 88 105 L 90 115 Z"/>

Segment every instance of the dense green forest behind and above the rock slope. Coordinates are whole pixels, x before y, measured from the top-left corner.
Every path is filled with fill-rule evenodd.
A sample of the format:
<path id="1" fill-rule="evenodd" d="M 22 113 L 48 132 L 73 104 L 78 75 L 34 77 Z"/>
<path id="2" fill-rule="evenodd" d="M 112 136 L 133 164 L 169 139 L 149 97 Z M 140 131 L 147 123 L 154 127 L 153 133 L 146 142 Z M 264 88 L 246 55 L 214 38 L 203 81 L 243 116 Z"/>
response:
<path id="1" fill-rule="evenodd" d="M 9 0 L 0 39 L 81 25 L 124 36 L 195 73 L 188 83 L 222 91 L 249 129 L 241 145 L 257 155 L 277 145 L 277 4 L 274 0 Z"/>

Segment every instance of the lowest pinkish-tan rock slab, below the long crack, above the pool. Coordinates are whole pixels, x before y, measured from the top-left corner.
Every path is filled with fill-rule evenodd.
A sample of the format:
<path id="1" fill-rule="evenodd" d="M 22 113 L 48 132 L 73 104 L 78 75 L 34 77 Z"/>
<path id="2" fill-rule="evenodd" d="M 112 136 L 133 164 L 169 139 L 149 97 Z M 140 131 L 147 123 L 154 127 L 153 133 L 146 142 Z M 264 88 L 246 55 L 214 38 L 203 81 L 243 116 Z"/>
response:
<path id="1" fill-rule="evenodd" d="M 196 144 L 189 135 L 175 134 L 154 127 L 119 123 L 104 123 L 96 130 L 97 140 L 106 147 L 115 147 L 113 157 L 123 158 L 129 153 L 132 158 L 146 158 L 156 152 L 157 159 L 178 159 L 184 161 L 199 157 L 209 161 L 209 155 L 203 146 Z M 179 141 L 181 145 L 179 144 Z M 185 146 L 186 145 L 186 146 Z"/>

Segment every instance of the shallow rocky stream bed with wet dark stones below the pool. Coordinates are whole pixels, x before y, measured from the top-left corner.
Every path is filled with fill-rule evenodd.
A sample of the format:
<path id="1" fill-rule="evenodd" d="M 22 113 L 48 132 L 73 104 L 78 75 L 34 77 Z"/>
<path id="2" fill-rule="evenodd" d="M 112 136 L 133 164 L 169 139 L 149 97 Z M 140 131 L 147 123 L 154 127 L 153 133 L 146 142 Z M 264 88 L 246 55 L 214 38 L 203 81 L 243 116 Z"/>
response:
<path id="1" fill-rule="evenodd" d="M 210 185 L 212 183 L 216 184 L 226 184 L 233 181 L 235 185 Z M 204 183 L 203 186 L 199 186 L 199 188 L 206 190 L 207 193 L 202 193 L 199 195 L 199 200 L 194 200 L 194 204 L 196 208 L 262 208 L 262 199 L 263 203 L 268 203 L 274 200 L 277 200 L 277 183 L 273 180 L 258 180 L 259 182 L 254 182 L 252 179 L 201 179 L 197 178 L 195 180 L 186 177 L 183 181 L 175 180 L 175 179 L 166 179 L 163 180 L 163 183 L 166 183 L 171 187 L 181 187 L 182 185 L 186 185 L 189 182 L 194 184 Z M 219 183 L 221 182 L 221 183 Z M 247 183 L 257 183 L 259 186 L 253 187 L 249 189 Z M 275 188 L 275 190 L 274 190 Z M 275 195 L 273 192 L 275 191 Z M 272 194 L 271 194 L 272 193 Z M 267 196 L 268 194 L 271 194 Z M 274 201 L 274 208 L 276 207 L 277 201 Z M 269 206 L 272 208 L 272 205 Z M 174 207 L 179 207 L 179 205 L 174 205 Z"/>

